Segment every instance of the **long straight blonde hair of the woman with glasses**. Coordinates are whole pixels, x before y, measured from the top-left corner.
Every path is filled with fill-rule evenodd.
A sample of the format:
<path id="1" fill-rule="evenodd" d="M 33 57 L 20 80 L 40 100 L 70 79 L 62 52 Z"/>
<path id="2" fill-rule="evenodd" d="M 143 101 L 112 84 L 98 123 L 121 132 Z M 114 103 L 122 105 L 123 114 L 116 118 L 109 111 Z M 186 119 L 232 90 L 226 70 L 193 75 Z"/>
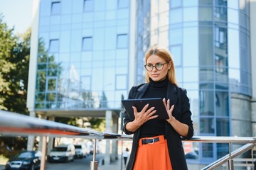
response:
<path id="1" fill-rule="evenodd" d="M 171 62 L 171 69 L 169 69 L 167 72 L 167 79 L 169 79 L 169 81 L 171 81 L 171 83 L 178 85 L 176 78 L 175 78 L 174 60 L 171 57 L 171 53 L 168 50 L 166 50 L 164 47 L 159 47 L 159 46 L 150 47 L 149 50 L 145 54 L 145 63 L 146 63 L 146 60 L 148 60 L 148 58 L 151 55 L 157 55 L 161 59 L 164 59 L 166 62 L 168 62 L 168 63 Z M 149 82 L 148 72 L 146 72 L 146 82 Z"/>

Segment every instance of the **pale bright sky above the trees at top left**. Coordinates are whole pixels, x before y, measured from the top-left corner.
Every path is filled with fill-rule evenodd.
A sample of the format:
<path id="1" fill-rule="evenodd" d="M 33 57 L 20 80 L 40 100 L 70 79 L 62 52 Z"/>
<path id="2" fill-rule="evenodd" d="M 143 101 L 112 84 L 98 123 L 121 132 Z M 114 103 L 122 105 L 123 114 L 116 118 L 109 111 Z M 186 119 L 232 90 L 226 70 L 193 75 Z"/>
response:
<path id="1" fill-rule="evenodd" d="M 0 0 L 0 13 L 14 34 L 25 33 L 32 23 L 33 0 Z"/>

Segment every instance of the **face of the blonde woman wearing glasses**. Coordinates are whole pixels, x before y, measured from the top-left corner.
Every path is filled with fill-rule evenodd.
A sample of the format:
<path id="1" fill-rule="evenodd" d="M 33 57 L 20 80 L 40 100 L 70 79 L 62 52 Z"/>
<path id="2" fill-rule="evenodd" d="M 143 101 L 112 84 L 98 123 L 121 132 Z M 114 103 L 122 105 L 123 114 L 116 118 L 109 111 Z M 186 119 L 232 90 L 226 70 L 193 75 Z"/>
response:
<path id="1" fill-rule="evenodd" d="M 164 64 L 163 69 L 161 70 L 157 70 L 156 67 L 153 67 L 151 72 L 149 72 L 148 70 L 146 71 L 153 81 L 161 81 L 166 78 L 168 70 L 171 69 L 171 64 L 170 62 L 166 64 L 165 63 L 166 61 L 157 55 L 151 55 L 146 60 L 146 64 L 152 64 L 153 66 L 155 66 L 156 64 Z"/>

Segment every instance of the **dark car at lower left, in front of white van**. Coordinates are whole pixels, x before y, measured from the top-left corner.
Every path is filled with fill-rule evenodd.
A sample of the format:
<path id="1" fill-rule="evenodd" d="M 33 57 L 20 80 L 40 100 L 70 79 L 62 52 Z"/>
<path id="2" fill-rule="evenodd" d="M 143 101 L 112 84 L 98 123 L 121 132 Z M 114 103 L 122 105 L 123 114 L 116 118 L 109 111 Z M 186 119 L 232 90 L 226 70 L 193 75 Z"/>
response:
<path id="1" fill-rule="evenodd" d="M 16 157 L 9 159 L 6 163 L 6 170 L 21 169 L 33 170 L 40 169 L 41 154 L 36 151 L 21 151 Z"/>

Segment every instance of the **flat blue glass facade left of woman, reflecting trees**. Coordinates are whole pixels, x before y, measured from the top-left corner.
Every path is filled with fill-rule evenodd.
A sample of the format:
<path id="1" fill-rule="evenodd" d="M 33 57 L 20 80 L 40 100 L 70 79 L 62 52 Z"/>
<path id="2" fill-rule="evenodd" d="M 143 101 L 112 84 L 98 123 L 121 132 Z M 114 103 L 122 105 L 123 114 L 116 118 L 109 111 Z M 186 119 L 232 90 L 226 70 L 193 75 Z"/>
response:
<path id="1" fill-rule="evenodd" d="M 42 0 L 36 110 L 121 108 L 129 1 Z"/>

